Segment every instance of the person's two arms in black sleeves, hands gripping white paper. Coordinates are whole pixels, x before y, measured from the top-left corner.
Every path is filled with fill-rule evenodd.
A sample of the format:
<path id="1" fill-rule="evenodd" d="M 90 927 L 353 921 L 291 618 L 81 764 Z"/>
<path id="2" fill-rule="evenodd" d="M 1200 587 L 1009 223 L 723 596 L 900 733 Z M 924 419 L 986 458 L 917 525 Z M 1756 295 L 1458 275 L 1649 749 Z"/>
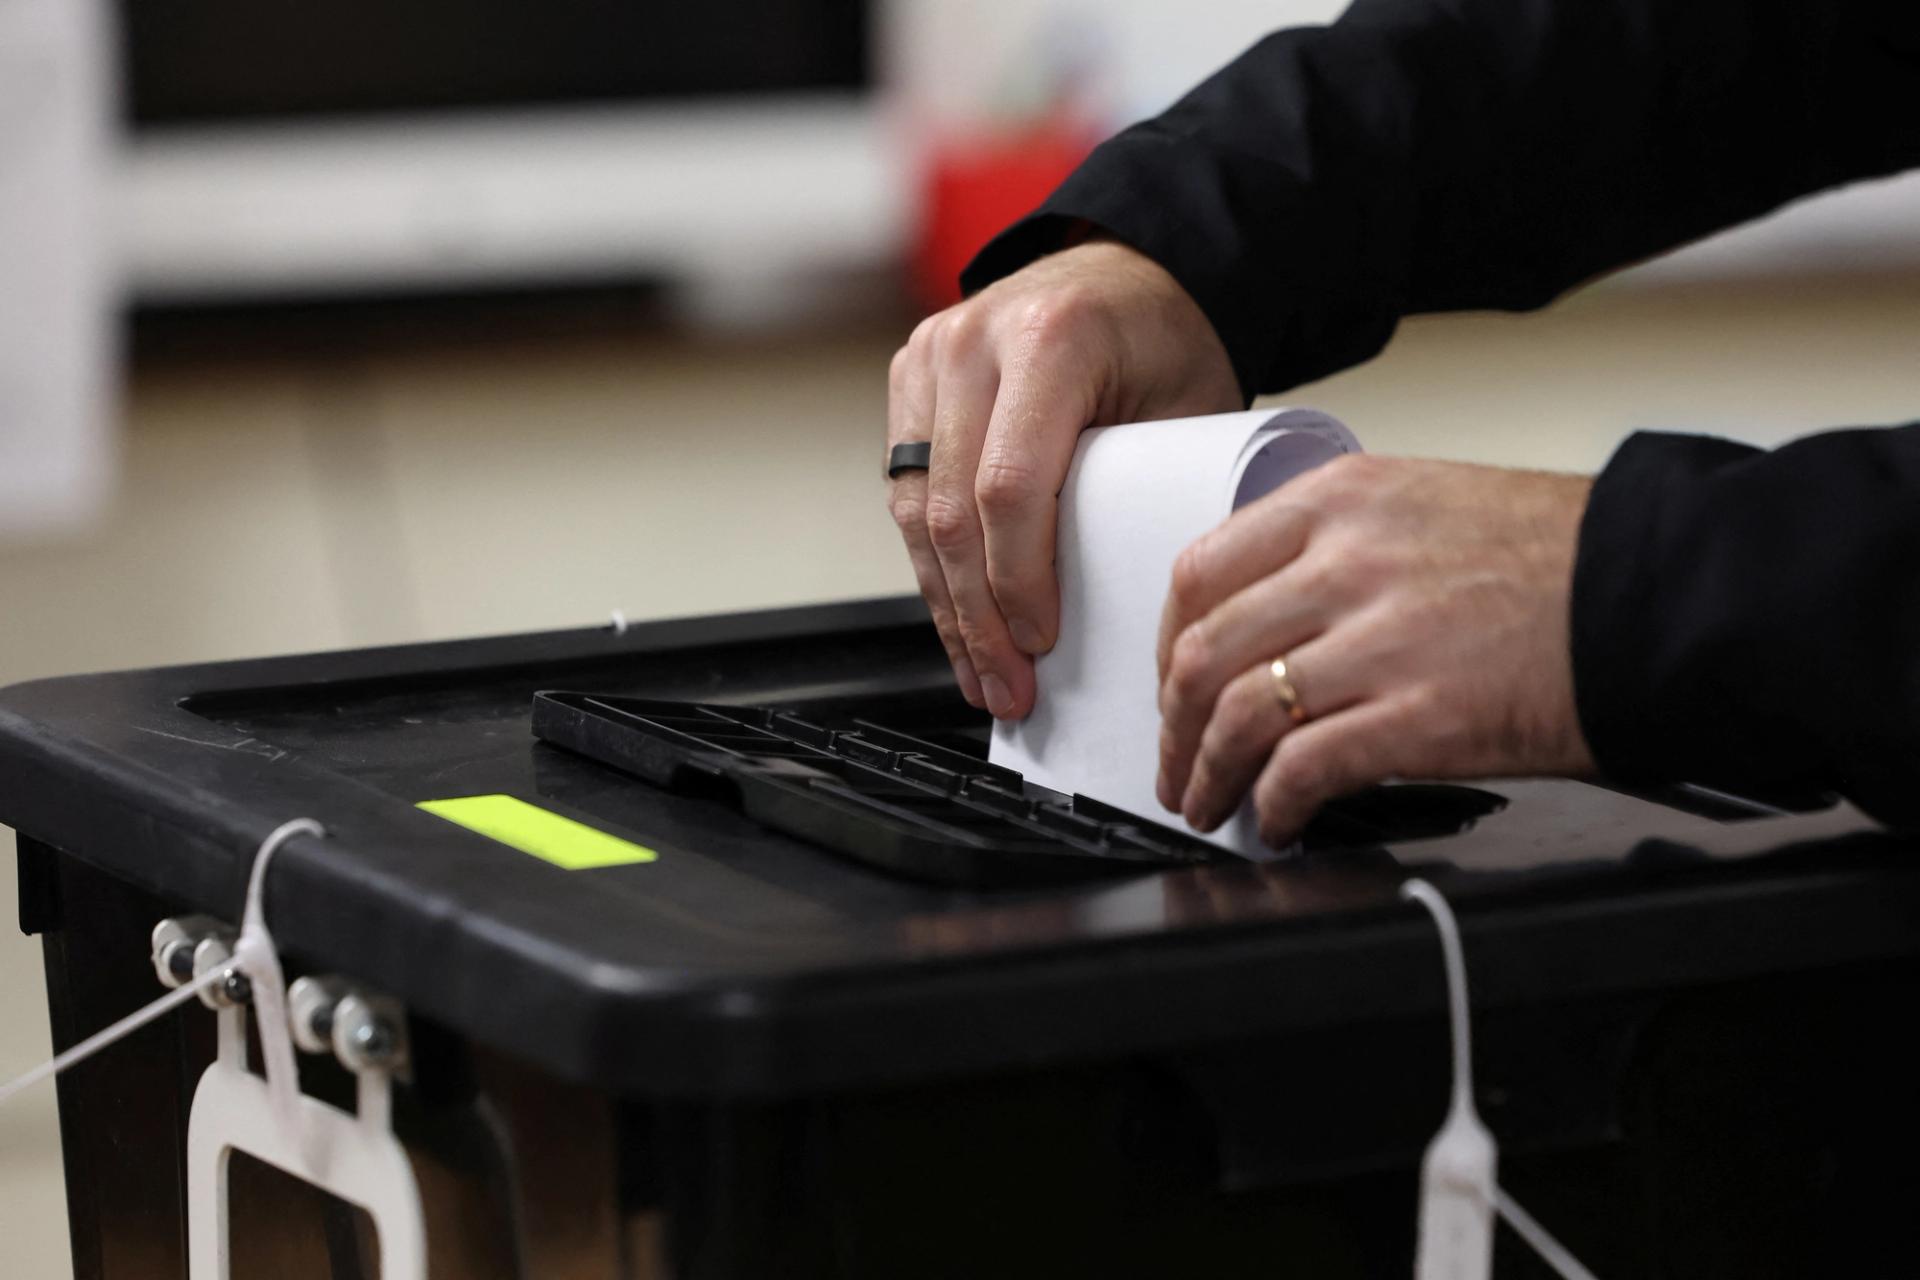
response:
<path id="1" fill-rule="evenodd" d="M 1102 142 L 893 365 L 893 510 L 995 743 L 1048 785 L 1094 777 L 1096 722 L 1044 704 L 1056 685 L 1098 704 L 1096 676 L 1142 697 L 1131 612 L 1125 654 L 1106 629 L 1100 662 L 1060 660 L 1052 495 L 1083 428 L 1290 393 L 1405 317 L 1532 311 L 1912 169 L 1920 130 L 1889 121 L 1910 121 L 1891 104 L 1916 67 L 1899 4 L 1356 4 Z M 1636 109 L 1594 109 L 1622 84 Z M 1396 773 L 1788 789 L 1920 825 L 1916 493 L 1914 420 L 1776 449 L 1638 432 L 1594 482 L 1340 461 L 1183 560 L 1160 794 L 1202 823 L 1231 810 L 1210 839 L 1242 850 Z M 1127 580 L 1164 580 L 1160 551 Z M 1125 783 L 1148 804 L 1152 771 Z"/>

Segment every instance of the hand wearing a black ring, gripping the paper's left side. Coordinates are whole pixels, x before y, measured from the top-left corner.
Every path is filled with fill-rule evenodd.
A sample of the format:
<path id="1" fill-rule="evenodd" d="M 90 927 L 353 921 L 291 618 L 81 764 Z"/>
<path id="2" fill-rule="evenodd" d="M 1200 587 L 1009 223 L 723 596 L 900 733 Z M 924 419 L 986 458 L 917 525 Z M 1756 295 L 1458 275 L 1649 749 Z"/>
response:
<path id="1" fill-rule="evenodd" d="M 893 357 L 887 445 L 933 441 L 887 486 L 960 693 L 1033 710 L 1054 647 L 1056 495 L 1089 426 L 1240 409 L 1227 351 L 1158 263 L 1100 240 L 1062 249 L 924 320 Z"/>

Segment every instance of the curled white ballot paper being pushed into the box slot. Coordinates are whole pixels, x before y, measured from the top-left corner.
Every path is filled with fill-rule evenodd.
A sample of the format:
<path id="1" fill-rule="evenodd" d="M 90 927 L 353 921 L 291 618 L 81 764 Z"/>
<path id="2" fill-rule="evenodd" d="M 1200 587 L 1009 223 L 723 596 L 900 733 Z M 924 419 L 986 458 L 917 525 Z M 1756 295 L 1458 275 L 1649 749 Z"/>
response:
<path id="1" fill-rule="evenodd" d="M 1352 432 L 1309 409 L 1250 409 L 1081 434 L 1060 489 L 1060 643 L 1035 664 L 1033 714 L 995 723 L 993 762 L 1043 787 L 1190 831 L 1154 796 L 1154 643 L 1173 560 L 1240 507 L 1357 451 Z M 1252 806 L 1202 839 L 1250 858 L 1273 852 L 1260 842 Z"/>

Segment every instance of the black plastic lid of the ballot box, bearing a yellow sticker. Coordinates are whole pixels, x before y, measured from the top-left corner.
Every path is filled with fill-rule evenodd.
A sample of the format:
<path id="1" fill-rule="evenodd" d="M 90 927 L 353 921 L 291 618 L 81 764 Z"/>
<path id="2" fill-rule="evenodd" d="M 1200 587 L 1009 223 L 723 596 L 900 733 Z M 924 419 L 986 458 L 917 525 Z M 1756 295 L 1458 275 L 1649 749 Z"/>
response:
<path id="1" fill-rule="evenodd" d="M 906 599 L 75 676 L 0 691 L 0 821 L 232 921 L 261 839 L 313 818 L 326 837 L 292 839 L 267 889 L 296 971 L 662 1096 L 1438 1015 L 1407 875 L 1455 902 L 1480 1006 L 1920 952 L 1910 841 L 1828 796 L 1507 781 L 1486 785 L 1496 806 L 1405 839 L 1361 841 L 1348 814 L 1346 839 L 1277 862 L 954 887 L 541 743 L 534 697 L 553 689 L 939 731 L 956 750 L 985 727 Z M 588 841 L 551 846 L 553 825 Z"/>

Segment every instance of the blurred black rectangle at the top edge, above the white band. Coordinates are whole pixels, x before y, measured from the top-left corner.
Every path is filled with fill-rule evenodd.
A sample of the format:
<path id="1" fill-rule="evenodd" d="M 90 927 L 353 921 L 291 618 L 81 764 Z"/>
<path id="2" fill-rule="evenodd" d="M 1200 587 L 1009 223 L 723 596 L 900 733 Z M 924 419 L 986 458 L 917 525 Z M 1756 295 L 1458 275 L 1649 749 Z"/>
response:
<path id="1" fill-rule="evenodd" d="M 870 0 L 121 0 L 136 125 L 872 84 Z"/>

